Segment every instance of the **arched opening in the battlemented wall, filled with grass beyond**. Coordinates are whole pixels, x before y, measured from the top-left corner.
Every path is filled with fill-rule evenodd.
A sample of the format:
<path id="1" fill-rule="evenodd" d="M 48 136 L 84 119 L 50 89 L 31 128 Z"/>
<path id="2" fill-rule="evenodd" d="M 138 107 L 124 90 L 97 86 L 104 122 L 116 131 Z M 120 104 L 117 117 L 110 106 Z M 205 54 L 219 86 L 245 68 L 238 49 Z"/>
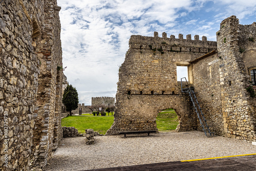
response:
<path id="1" fill-rule="evenodd" d="M 179 118 L 174 109 L 164 109 L 158 113 L 156 123 L 160 133 L 174 132 L 179 124 Z"/>

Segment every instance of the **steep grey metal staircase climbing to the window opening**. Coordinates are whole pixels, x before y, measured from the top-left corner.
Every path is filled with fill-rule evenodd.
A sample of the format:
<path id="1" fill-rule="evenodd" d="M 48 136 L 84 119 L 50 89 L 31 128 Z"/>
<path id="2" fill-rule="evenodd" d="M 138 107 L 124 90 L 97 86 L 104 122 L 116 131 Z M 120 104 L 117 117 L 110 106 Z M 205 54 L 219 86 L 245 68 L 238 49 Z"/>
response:
<path id="1" fill-rule="evenodd" d="M 185 77 L 184 77 L 184 78 L 185 78 Z M 192 103 L 193 103 L 194 109 L 195 109 L 195 111 L 196 111 L 196 113 L 197 113 L 197 117 L 198 117 L 198 119 L 199 119 L 199 121 L 200 121 L 200 124 L 201 124 L 200 126 L 202 127 L 205 136 L 208 136 L 208 137 L 214 136 L 214 133 L 213 133 L 213 132 L 210 132 L 210 130 L 209 130 L 209 126 L 208 126 L 208 124 L 207 124 L 207 122 L 206 122 L 206 119 L 205 119 L 205 117 L 204 117 L 204 114 L 203 114 L 203 112 L 202 112 L 202 109 L 201 109 L 201 107 L 200 107 L 200 105 L 199 105 L 199 102 L 198 102 L 198 100 L 197 100 L 196 93 L 194 92 L 194 88 L 191 88 L 191 87 L 189 86 L 189 84 L 188 84 L 186 78 L 185 78 L 186 83 L 187 83 L 186 86 L 187 86 L 188 88 L 183 88 L 183 87 L 182 87 L 182 79 L 184 79 L 184 78 L 181 78 L 181 92 L 183 92 L 183 93 L 188 93 L 188 94 L 189 94 L 189 97 L 190 97 L 190 99 L 191 99 L 191 101 L 192 101 Z M 208 134 L 208 135 L 207 135 L 207 134 Z"/>

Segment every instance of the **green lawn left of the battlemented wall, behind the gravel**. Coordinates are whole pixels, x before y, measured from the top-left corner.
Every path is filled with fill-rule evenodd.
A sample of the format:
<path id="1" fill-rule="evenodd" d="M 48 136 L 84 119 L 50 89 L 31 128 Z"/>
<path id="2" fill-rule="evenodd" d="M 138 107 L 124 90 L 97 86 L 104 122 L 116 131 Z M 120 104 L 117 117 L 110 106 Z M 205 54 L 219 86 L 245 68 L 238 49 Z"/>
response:
<path id="1" fill-rule="evenodd" d="M 61 120 L 61 126 L 74 126 L 78 133 L 84 133 L 86 129 L 93 129 L 100 134 L 105 134 L 114 122 L 114 116 L 68 116 Z"/>

